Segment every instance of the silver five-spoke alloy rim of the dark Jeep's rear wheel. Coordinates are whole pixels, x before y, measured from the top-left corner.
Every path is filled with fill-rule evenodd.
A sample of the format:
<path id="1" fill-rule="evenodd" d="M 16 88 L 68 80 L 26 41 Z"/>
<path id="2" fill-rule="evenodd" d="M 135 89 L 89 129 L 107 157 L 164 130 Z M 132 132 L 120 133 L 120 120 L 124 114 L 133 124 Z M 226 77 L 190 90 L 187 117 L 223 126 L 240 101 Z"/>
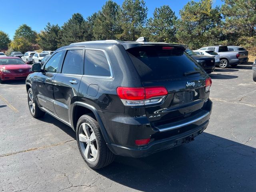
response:
<path id="1" fill-rule="evenodd" d="M 78 139 L 84 158 L 94 162 L 98 156 L 98 142 L 92 127 L 88 123 L 80 125 Z"/>

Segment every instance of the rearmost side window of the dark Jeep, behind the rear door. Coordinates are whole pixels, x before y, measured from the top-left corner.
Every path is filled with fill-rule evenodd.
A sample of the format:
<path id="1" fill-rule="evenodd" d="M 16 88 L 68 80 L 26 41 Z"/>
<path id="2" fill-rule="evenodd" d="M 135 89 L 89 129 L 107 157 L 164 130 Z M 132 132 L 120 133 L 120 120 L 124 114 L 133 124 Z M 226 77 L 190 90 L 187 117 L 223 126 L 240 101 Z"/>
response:
<path id="1" fill-rule="evenodd" d="M 85 51 L 84 74 L 105 77 L 111 76 L 108 60 L 103 51 Z"/>

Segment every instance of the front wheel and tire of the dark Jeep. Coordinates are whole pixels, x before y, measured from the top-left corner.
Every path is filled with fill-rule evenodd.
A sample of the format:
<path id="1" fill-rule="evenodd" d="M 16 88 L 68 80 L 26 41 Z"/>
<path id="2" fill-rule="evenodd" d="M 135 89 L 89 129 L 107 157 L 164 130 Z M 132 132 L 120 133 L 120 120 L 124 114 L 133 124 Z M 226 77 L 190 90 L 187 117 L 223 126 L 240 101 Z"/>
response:
<path id="1" fill-rule="evenodd" d="M 45 112 L 40 110 L 40 108 L 38 107 L 31 88 L 29 88 L 28 90 L 28 107 L 31 115 L 34 118 L 42 117 L 45 114 Z"/>

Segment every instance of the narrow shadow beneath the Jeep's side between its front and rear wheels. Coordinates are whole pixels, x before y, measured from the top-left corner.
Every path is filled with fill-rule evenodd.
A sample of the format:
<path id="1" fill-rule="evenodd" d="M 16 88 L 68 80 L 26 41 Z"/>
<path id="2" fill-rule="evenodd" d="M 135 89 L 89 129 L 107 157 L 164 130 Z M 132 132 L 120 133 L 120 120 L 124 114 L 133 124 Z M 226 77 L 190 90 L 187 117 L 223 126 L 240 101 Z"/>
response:
<path id="1" fill-rule="evenodd" d="M 50 116 L 49 114 L 45 114 L 42 118 L 38 118 L 38 120 L 54 124 L 58 128 L 60 128 L 62 131 L 64 131 L 66 134 L 70 135 L 72 138 L 76 139 L 76 133 L 70 126 L 67 126 L 66 124 L 62 123 L 61 121 L 57 120 L 56 118 Z"/>

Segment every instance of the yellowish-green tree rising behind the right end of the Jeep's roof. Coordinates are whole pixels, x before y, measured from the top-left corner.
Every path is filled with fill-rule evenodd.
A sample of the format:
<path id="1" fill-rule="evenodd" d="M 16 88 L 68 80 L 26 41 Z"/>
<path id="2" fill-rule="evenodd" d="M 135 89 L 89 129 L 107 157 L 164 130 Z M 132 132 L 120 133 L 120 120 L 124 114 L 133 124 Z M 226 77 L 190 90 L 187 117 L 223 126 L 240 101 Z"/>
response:
<path id="1" fill-rule="evenodd" d="M 216 36 L 215 29 L 221 21 L 220 8 L 212 8 L 212 0 L 188 2 L 180 10 L 180 16 L 177 23 L 179 43 L 196 49 L 218 41 L 218 37 L 214 35 Z"/>

